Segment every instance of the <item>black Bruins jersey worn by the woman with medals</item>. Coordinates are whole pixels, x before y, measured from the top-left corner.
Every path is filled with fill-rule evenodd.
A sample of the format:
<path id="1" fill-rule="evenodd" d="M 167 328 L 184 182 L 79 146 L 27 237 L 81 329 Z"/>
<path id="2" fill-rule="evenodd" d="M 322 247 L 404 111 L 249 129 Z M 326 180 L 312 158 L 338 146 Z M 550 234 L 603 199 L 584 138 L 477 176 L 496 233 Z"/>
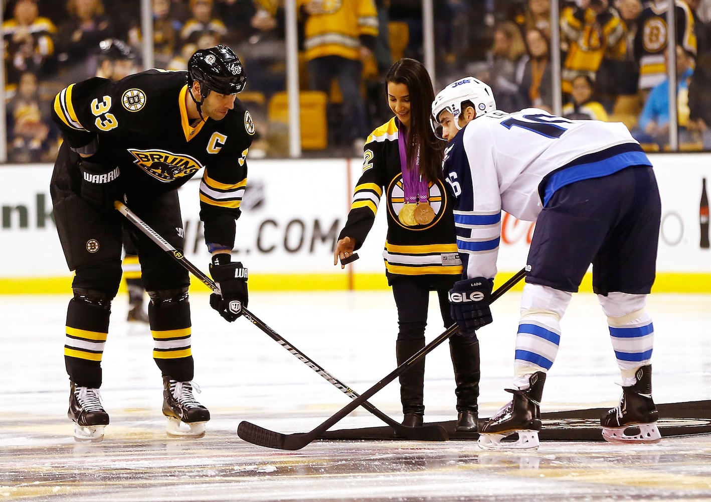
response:
<path id="1" fill-rule="evenodd" d="M 400 150 L 395 117 L 368 136 L 363 154 L 363 174 L 355 185 L 348 221 L 338 239 L 355 239 L 359 249 L 373 227 L 383 193 L 387 202 L 385 269 L 392 276 L 445 276 L 451 283 L 461 276 L 461 260 L 454 233 L 453 199 L 442 179 L 429 183 L 429 204 L 434 219 L 426 225 L 405 226 L 397 215 L 405 204 L 400 169 Z M 434 283 L 433 283 L 434 285 Z"/>

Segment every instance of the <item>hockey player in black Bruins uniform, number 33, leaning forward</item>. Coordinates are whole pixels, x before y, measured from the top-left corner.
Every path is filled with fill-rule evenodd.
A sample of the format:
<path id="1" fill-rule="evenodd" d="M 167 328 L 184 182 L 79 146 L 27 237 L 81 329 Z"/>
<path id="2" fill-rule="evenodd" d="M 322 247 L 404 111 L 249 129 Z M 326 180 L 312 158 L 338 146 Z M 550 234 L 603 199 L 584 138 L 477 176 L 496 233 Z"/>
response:
<path id="1" fill-rule="evenodd" d="M 122 226 L 129 225 L 112 209 L 114 200 L 126 202 L 182 251 L 177 189 L 202 172 L 200 218 L 213 253 L 210 273 L 222 293 L 210 296 L 210 305 L 230 321 L 247 305 L 247 269 L 230 261 L 255 132 L 236 99 L 245 82 L 235 53 L 216 46 L 194 53 L 187 72 L 147 70 L 118 82 L 90 78 L 55 97 L 53 117 L 64 141 L 50 193 L 65 258 L 75 271 L 64 357 L 76 439 L 100 440 L 109 423 L 100 402 L 101 360 L 122 276 Z M 151 299 L 168 432 L 202 436 L 210 413 L 193 397 L 188 272 L 143 234 L 134 231 L 134 237 Z"/>

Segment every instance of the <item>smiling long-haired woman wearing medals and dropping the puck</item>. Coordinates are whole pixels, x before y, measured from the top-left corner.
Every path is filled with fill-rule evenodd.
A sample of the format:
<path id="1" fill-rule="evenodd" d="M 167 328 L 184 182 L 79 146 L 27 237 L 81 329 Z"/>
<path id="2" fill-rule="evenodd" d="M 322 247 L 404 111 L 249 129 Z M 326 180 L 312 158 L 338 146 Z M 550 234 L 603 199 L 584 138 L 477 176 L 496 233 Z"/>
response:
<path id="1" fill-rule="evenodd" d="M 461 278 L 453 200 L 442 179 L 443 145 L 429 126 L 432 82 L 422 63 L 404 58 L 386 76 L 387 101 L 395 113 L 363 147 L 363 174 L 355 186 L 348 221 L 338 235 L 333 264 L 359 249 L 386 194 L 385 275 L 397 305 L 397 364 L 424 347 L 429 292 L 437 291 L 444 326 L 454 323 L 447 292 Z M 449 339 L 456 382 L 456 430 L 476 432 L 479 408 L 479 341 L 476 333 Z M 400 376 L 403 425 L 423 423 L 424 360 Z"/>

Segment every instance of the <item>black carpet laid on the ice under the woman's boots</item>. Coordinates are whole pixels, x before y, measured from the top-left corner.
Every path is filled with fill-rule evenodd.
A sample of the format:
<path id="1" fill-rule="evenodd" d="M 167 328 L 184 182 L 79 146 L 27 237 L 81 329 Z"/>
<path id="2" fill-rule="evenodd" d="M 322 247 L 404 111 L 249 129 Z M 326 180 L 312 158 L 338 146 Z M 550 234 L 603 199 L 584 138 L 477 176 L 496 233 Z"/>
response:
<path id="1" fill-rule="evenodd" d="M 609 408 L 572 409 L 563 412 L 547 412 L 541 414 L 543 429 L 538 434 L 541 441 L 602 441 L 600 417 Z M 711 433 L 711 400 L 687 401 L 657 404 L 659 420 L 657 422 L 662 437 L 696 436 Z M 480 419 L 480 422 L 486 418 Z M 455 421 L 429 422 L 444 427 L 449 439 L 466 441 L 478 439 L 479 434 L 471 432 L 455 432 Z M 359 439 L 394 439 L 396 437 L 390 427 L 365 427 L 361 429 L 340 429 L 327 431 L 320 439 L 348 440 Z"/>

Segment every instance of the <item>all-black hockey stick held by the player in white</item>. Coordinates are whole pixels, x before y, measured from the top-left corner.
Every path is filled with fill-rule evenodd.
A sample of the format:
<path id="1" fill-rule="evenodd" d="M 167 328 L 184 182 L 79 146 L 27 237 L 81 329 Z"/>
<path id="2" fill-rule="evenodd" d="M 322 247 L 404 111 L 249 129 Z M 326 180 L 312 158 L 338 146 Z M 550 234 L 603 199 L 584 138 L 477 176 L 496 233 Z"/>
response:
<path id="1" fill-rule="evenodd" d="M 525 275 L 525 268 L 522 268 L 520 271 L 516 272 L 512 278 L 506 281 L 506 283 L 503 283 L 503 285 L 496 291 L 491 293 L 491 301 L 493 302 L 494 300 L 502 296 L 503 293 L 506 293 L 506 291 L 512 288 L 515 283 L 518 283 L 518 281 L 520 281 Z M 392 382 L 392 380 L 395 380 L 395 378 L 402 375 L 402 373 L 407 371 L 410 365 L 415 364 L 415 362 L 417 362 L 421 357 L 424 357 L 424 355 L 428 354 L 429 352 L 432 352 L 434 347 L 437 347 L 437 345 L 444 342 L 444 340 L 447 340 L 447 338 L 451 337 L 451 335 L 454 335 L 457 330 L 459 330 L 459 326 L 456 325 L 456 323 L 449 326 L 449 328 L 447 328 L 447 330 L 442 333 L 442 335 L 439 335 L 437 338 L 432 340 L 432 342 L 429 342 L 427 345 L 415 352 L 415 355 L 412 355 L 410 359 L 395 368 L 395 370 L 393 370 L 390 375 L 387 375 L 387 377 L 383 378 L 383 380 L 380 380 L 380 382 L 373 385 L 373 387 L 370 387 L 370 389 L 363 392 L 363 394 L 360 394 L 360 397 L 358 397 L 357 399 L 353 399 L 353 401 L 348 403 L 345 407 L 341 408 L 340 411 L 338 411 L 336 414 L 332 415 L 329 419 L 327 419 L 326 422 L 323 422 L 321 425 L 316 427 L 316 429 L 313 429 L 310 432 L 295 432 L 294 434 L 282 434 L 281 432 L 270 431 L 269 429 L 264 429 L 263 427 L 252 424 L 251 422 L 243 421 L 240 422 L 239 427 L 237 427 L 237 436 L 240 436 L 240 438 L 252 444 L 257 444 L 259 446 L 267 446 L 267 448 L 275 448 L 280 450 L 299 450 L 307 444 L 311 443 L 311 441 L 319 439 L 319 436 L 321 436 L 321 434 L 330 429 L 333 424 L 336 424 L 336 422 L 346 417 L 346 415 L 351 413 L 362 402 L 365 402 L 365 399 L 370 398 L 371 396 L 373 396 L 373 394 L 375 394 L 375 392 L 378 392 L 380 389 L 383 389 L 385 385 L 389 384 L 390 382 Z"/>

